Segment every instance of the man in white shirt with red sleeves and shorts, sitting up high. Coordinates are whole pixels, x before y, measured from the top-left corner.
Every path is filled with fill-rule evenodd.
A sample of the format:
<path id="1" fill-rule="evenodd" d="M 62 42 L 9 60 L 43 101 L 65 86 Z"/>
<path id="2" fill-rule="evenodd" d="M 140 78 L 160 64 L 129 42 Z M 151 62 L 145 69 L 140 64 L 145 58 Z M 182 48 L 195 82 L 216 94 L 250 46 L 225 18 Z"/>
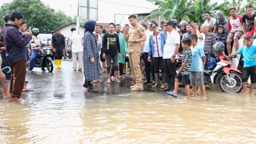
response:
<path id="1" fill-rule="evenodd" d="M 232 6 L 229 8 L 231 16 L 228 18 L 228 38 L 227 38 L 227 51 L 228 55 L 231 54 L 231 42 L 234 39 L 235 51 L 238 50 L 238 40 L 244 34 L 242 17 L 236 14 L 236 7 Z"/>

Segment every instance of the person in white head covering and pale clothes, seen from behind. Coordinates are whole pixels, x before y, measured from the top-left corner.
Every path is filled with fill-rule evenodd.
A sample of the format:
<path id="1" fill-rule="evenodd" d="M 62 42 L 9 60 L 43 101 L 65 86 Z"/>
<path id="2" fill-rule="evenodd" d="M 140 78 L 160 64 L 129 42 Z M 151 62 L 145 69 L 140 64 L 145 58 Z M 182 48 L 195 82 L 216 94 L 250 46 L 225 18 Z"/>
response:
<path id="1" fill-rule="evenodd" d="M 82 39 L 81 36 L 76 32 L 76 30 L 73 30 L 72 35 L 70 37 L 69 42 L 70 50 L 72 50 L 72 56 L 73 56 L 73 63 L 74 63 L 74 70 L 76 70 L 77 67 L 77 59 L 78 59 L 78 70 L 82 71 L 83 66 L 83 58 L 82 58 Z"/>

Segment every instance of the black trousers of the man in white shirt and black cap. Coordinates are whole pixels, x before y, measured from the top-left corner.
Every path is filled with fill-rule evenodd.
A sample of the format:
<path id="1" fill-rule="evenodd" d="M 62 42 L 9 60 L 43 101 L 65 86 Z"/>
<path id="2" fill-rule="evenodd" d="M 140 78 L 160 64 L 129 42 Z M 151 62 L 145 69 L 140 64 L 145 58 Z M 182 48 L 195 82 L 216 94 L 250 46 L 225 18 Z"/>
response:
<path id="1" fill-rule="evenodd" d="M 164 59 L 164 67 L 166 71 L 166 77 L 174 79 L 176 76 L 176 66 L 175 62 L 177 59 L 174 60 L 174 63 L 171 62 L 171 59 Z"/>

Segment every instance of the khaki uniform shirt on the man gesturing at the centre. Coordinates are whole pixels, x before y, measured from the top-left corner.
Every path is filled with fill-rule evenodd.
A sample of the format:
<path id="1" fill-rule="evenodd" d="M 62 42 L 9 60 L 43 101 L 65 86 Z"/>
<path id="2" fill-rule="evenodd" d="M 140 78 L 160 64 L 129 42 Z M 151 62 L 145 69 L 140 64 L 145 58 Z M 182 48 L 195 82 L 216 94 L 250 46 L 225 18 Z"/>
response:
<path id="1" fill-rule="evenodd" d="M 140 24 L 130 28 L 127 34 L 128 40 L 138 40 L 140 38 L 147 38 L 144 27 Z M 128 43 L 128 53 L 141 52 L 141 42 Z"/>

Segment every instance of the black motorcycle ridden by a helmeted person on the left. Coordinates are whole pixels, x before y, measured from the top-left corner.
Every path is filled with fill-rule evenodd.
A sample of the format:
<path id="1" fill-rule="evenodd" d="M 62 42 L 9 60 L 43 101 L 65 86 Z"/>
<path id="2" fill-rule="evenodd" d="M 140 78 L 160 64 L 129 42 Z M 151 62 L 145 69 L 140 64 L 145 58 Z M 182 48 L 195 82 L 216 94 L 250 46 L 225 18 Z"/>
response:
<path id="1" fill-rule="evenodd" d="M 34 43 L 34 42 L 31 42 Z M 52 51 L 50 48 L 48 48 L 48 44 L 42 43 L 41 45 L 38 46 L 33 46 L 33 47 L 41 47 L 40 52 L 37 53 L 36 55 L 36 60 L 35 60 L 35 65 L 34 68 L 47 68 L 48 72 L 53 71 L 53 64 L 52 64 Z M 31 56 L 31 53 L 30 53 Z M 27 62 L 27 69 L 29 66 L 30 60 Z"/>

